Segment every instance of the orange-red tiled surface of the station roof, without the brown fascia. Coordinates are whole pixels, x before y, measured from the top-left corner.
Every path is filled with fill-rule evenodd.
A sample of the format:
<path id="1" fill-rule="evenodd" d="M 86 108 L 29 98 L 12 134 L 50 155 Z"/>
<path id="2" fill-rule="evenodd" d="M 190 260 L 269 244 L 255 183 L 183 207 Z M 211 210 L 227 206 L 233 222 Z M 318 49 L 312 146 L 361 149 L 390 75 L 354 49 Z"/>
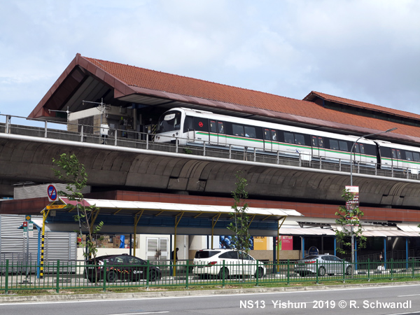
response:
<path id="1" fill-rule="evenodd" d="M 323 106 L 319 106 L 314 102 L 291 99 L 288 97 L 281 97 L 254 90 L 246 90 L 240 87 L 233 87 L 230 85 L 223 85 L 205 80 L 188 78 L 185 76 L 177 76 L 170 73 L 139 68 L 137 66 L 118 64 L 116 62 L 109 62 L 89 57 L 84 58 L 130 86 L 144 87 L 151 90 L 160 90 L 190 97 L 200 97 L 203 99 L 211 99 L 230 104 L 239 104 L 256 109 L 265 109 L 267 111 L 288 113 L 295 116 L 316 118 L 318 120 L 327 120 L 333 123 L 365 127 L 372 130 L 388 130 L 393 127 L 398 127 L 398 130 L 395 131 L 397 134 L 420 137 L 420 128 L 418 127 L 392 123 L 375 118 L 367 118 L 365 116 L 357 116 L 351 113 L 335 111 L 333 109 L 325 109 Z M 354 106 L 363 106 L 365 108 L 377 110 L 381 109 L 381 111 L 388 110 L 389 113 L 393 113 L 398 116 L 407 116 L 408 114 L 402 111 L 386 109 L 381 106 L 351 101 L 341 97 L 332 97 L 328 94 L 316 93 L 320 97 L 325 97 L 325 99 L 328 97 L 328 99 L 336 102 L 341 101 L 346 104 L 353 104 Z M 402 113 L 405 113 L 405 115 L 402 115 Z M 409 117 L 413 117 L 413 115 L 410 115 Z"/>

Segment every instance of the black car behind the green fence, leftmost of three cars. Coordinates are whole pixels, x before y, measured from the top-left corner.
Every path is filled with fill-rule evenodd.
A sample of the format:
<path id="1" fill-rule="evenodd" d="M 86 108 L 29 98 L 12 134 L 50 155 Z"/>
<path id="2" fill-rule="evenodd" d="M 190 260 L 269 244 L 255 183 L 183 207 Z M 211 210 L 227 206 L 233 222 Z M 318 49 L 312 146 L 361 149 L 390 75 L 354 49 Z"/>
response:
<path id="1" fill-rule="evenodd" d="M 147 267 L 147 262 L 132 255 L 104 255 L 87 260 L 85 278 L 90 282 L 104 279 L 104 265 L 106 262 L 106 281 L 115 282 L 146 280 L 157 281 L 162 278 L 162 272 L 156 266 Z"/>

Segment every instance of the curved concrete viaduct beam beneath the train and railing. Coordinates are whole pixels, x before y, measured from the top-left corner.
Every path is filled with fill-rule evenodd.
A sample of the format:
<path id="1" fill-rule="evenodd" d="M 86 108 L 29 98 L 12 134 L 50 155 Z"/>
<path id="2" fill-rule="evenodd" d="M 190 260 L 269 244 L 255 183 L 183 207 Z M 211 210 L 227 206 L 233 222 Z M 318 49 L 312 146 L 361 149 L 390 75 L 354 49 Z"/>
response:
<path id="1" fill-rule="evenodd" d="M 349 173 L 210 158 L 138 148 L 0 134 L 0 194 L 20 181 L 57 182 L 52 158 L 74 153 L 85 165 L 88 185 L 230 195 L 237 172 L 253 198 L 342 202 Z M 419 207 L 420 181 L 354 174 L 360 197 L 378 207 Z"/>

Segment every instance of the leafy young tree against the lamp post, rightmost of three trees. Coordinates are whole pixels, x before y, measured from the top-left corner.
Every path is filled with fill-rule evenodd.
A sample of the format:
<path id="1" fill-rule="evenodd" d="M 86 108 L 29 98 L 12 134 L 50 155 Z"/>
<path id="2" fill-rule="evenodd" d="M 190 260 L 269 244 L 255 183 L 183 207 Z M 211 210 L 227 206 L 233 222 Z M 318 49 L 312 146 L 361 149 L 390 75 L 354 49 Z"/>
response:
<path id="1" fill-rule="evenodd" d="M 356 196 L 351 193 L 349 189 L 344 189 L 342 198 L 346 202 L 346 207 L 340 206 L 338 211 L 335 213 L 338 218 L 335 220 L 337 225 L 342 226 L 342 230 L 337 230 L 335 236 L 343 246 L 351 248 L 351 237 L 356 237 L 357 248 L 366 247 L 366 237 L 363 236 L 362 225 L 360 224 L 360 218 L 363 217 L 363 211 L 360 211 L 358 207 L 358 200 Z M 337 248 L 339 253 L 347 253 L 345 248 Z M 353 253 L 353 250 L 351 251 Z M 352 255 L 353 256 L 353 255 Z M 352 257 L 352 262 L 353 261 Z"/>

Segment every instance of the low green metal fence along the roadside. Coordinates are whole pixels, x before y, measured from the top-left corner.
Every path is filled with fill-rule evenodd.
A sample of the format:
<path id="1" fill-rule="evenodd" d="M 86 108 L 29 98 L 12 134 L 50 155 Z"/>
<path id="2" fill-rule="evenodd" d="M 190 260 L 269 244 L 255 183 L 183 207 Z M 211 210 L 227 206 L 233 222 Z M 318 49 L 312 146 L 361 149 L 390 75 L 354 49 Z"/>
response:
<path id="1" fill-rule="evenodd" d="M 169 287 L 169 286 L 226 286 L 251 283 L 328 283 L 351 279 L 420 278 L 419 260 L 363 261 L 351 264 L 339 262 L 320 265 L 285 262 L 245 261 L 243 264 L 223 262 L 214 265 L 192 265 L 186 261 L 176 266 L 147 262 L 145 265 L 85 265 L 85 262 L 47 263 L 43 276 L 38 265 L 13 265 L 9 260 L 0 262 L 0 293 L 16 290 L 69 290 L 74 288 Z"/>

